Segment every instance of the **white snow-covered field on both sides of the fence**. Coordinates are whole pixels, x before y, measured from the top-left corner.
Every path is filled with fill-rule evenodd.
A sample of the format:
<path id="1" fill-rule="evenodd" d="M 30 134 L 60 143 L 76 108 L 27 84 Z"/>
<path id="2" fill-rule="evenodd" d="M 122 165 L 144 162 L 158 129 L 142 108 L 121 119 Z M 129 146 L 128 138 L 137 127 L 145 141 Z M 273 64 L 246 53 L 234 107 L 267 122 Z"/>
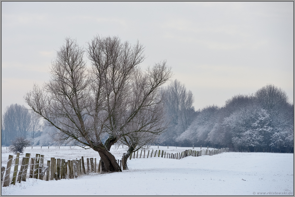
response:
<path id="1" fill-rule="evenodd" d="M 183 147 L 151 147 L 169 153 Z M 195 148 L 194 150 L 200 150 Z M 122 147 L 111 152 L 120 159 Z M 25 153 L 76 159 L 99 156 L 91 149 L 79 147 L 33 147 Z M 2 147 L 2 166 L 8 155 Z M 135 154 L 136 157 L 136 154 Z M 138 156 L 139 157 L 139 156 Z M 143 157 L 143 155 L 142 155 Z M 15 158 L 15 155 L 14 155 Z M 43 181 L 33 178 L 15 186 L 2 187 L 2 195 L 294 195 L 294 156 L 280 153 L 222 153 L 213 156 L 128 159 L 129 170 L 98 174 L 77 179 Z M 2 183 L 3 185 L 3 183 Z"/>

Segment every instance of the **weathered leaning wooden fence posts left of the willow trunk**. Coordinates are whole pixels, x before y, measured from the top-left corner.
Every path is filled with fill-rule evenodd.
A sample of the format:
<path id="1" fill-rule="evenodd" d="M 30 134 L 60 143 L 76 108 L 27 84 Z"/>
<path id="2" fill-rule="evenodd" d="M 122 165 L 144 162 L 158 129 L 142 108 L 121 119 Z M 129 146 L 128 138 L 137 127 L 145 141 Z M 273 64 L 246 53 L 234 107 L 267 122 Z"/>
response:
<path id="1" fill-rule="evenodd" d="M 65 159 L 51 157 L 50 160 L 46 160 L 44 155 L 36 154 L 36 157 L 30 158 L 30 153 L 26 153 L 21 163 L 19 163 L 19 156 L 20 153 L 17 152 L 16 159 L 13 160 L 13 155 L 9 155 L 6 172 L 5 167 L 1 168 L 1 182 L 4 177 L 3 187 L 26 181 L 27 178 L 45 181 L 72 179 L 90 172 L 100 172 L 101 170 L 101 162 L 99 161 L 97 168 L 96 158 L 84 159 L 81 157 L 81 159 L 76 158 L 76 160 L 66 161 Z"/>

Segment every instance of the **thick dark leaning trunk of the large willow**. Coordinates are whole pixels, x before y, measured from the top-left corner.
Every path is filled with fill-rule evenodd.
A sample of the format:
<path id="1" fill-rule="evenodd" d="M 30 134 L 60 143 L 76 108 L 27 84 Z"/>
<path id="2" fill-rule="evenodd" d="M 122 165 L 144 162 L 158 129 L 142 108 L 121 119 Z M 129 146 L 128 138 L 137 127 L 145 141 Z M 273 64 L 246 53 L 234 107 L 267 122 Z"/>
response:
<path id="1" fill-rule="evenodd" d="M 98 146 L 93 147 L 93 150 L 99 153 L 101 157 L 101 172 L 122 172 L 116 158 L 107 150 L 107 148 L 100 143 Z"/>

